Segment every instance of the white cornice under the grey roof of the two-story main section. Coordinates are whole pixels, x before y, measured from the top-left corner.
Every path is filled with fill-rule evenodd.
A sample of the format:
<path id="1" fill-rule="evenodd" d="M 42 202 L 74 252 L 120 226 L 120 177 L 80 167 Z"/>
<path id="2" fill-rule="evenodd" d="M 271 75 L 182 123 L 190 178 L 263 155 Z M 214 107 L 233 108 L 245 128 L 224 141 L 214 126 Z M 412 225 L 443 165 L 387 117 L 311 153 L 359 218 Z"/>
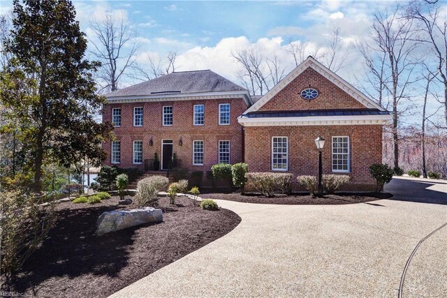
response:
<path id="1" fill-rule="evenodd" d="M 203 93 L 191 93 L 191 94 L 150 94 L 142 96 L 110 96 L 107 98 L 107 101 L 109 103 L 141 103 L 141 102 L 226 99 L 226 98 L 243 98 L 248 106 L 250 106 L 252 103 L 248 91 L 222 91 L 222 92 L 203 92 Z"/>

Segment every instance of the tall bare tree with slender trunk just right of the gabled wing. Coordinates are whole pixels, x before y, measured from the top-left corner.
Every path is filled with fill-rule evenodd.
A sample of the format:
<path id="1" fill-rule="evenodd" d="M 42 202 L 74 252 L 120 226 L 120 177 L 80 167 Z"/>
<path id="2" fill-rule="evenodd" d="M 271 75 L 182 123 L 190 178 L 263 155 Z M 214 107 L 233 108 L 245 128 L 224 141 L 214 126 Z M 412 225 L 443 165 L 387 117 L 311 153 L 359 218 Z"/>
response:
<path id="1" fill-rule="evenodd" d="M 374 44 L 386 53 L 387 68 L 390 72 L 390 93 L 393 105 L 393 153 L 394 166 L 399 167 L 399 103 L 402 98 L 409 98 L 406 91 L 414 81 L 413 70 L 417 61 L 413 54 L 418 47 L 417 32 L 413 21 L 400 18 L 400 7 L 396 6 L 392 13 L 377 12 L 374 14 L 372 38 Z"/>

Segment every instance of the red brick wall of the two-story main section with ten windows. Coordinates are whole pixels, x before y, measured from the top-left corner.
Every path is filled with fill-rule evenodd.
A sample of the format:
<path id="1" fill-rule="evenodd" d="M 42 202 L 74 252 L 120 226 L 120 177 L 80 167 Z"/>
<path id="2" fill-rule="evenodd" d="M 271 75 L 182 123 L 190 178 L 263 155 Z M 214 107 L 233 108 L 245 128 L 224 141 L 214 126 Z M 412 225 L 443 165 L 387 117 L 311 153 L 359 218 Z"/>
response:
<path id="1" fill-rule="evenodd" d="M 231 123 L 228 126 L 219 125 L 219 103 L 230 103 Z M 205 105 L 205 125 L 193 126 L 193 105 Z M 173 105 L 173 126 L 162 125 L 163 105 Z M 112 121 L 112 108 L 121 107 L 122 125 L 115 128 L 117 140 L 121 141 L 121 163 L 119 167 L 138 167 L 133 165 L 133 141 L 142 140 L 143 160 L 154 158 L 159 154 L 161 160 L 161 140 L 173 140 L 173 151 L 182 160 L 182 166 L 189 170 L 210 170 L 218 161 L 219 140 L 230 140 L 230 163 L 242 161 L 242 126 L 237 123 L 237 117 L 247 110 L 247 104 L 241 98 L 166 101 L 162 103 L 123 103 L 110 104 L 104 109 L 103 120 Z M 133 107 L 144 107 L 143 126 L 133 126 Z M 152 137 L 153 146 L 149 146 Z M 179 146 L 182 137 L 183 145 Z M 192 165 L 193 140 L 205 141 L 205 164 Z M 106 165 L 110 165 L 110 142 L 103 143 L 107 151 Z"/>

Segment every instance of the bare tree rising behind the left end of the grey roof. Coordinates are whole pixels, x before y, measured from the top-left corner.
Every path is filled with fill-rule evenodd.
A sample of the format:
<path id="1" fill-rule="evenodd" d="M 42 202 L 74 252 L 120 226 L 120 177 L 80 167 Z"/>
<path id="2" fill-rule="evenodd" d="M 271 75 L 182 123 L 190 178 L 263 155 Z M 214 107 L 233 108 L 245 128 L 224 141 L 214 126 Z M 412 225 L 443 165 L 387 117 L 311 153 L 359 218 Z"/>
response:
<path id="1" fill-rule="evenodd" d="M 102 63 L 101 87 L 115 91 L 120 78 L 135 62 L 138 46 L 132 41 L 133 29 L 123 14 L 115 17 L 106 13 L 103 19 L 94 19 L 90 24 L 96 37 L 89 39 L 94 46 L 93 54 Z"/>

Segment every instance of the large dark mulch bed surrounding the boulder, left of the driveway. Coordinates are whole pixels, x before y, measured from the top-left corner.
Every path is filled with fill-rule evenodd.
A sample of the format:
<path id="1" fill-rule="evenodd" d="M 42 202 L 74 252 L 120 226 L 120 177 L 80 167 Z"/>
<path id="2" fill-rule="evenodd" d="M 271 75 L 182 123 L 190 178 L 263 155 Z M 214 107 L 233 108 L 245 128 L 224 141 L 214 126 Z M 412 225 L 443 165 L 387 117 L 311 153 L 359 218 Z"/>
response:
<path id="1" fill-rule="evenodd" d="M 22 271 L 2 290 L 25 297 L 108 297 L 233 230 L 233 211 L 206 211 L 189 198 L 175 205 L 161 198 L 163 223 L 141 225 L 95 237 L 96 220 L 117 207 L 119 198 L 100 204 L 58 205 L 57 225 Z"/>

